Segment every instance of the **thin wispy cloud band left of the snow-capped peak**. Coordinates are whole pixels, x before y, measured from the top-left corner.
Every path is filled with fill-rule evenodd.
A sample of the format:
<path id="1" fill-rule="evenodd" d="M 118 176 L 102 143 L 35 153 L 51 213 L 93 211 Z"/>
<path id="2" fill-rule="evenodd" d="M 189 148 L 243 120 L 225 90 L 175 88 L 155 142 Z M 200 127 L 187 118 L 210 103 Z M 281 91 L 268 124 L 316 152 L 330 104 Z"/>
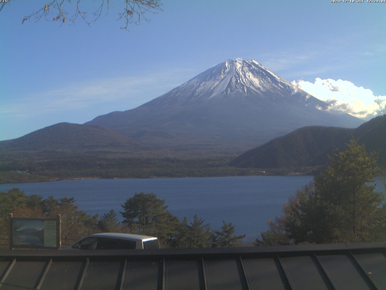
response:
<path id="1" fill-rule="evenodd" d="M 186 72 L 185 72 L 186 73 Z M 8 97 L 0 107 L 0 114 L 8 117 L 42 115 L 71 110 L 90 110 L 105 106 L 106 109 L 124 111 L 140 106 L 168 90 L 173 80 L 184 72 L 170 71 L 143 76 L 115 77 L 88 80 L 41 92 L 28 92 Z M 109 112 L 105 112 L 109 113 Z M 71 121 L 71 120 L 69 120 Z"/>

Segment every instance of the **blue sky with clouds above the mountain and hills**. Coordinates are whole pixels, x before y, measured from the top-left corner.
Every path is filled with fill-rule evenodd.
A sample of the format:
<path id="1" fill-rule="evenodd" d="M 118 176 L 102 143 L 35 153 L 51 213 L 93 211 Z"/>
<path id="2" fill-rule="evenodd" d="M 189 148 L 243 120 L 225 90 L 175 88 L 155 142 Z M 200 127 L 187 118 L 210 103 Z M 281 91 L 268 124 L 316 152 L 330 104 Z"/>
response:
<path id="1" fill-rule="evenodd" d="M 81 1 L 90 18 L 99 1 Z M 349 104 L 365 119 L 386 113 L 386 3 L 161 2 L 163 11 L 127 32 L 118 0 L 91 27 L 82 19 L 22 24 L 46 2 L 8 1 L 0 12 L 0 140 L 132 109 L 236 58 L 336 109 Z"/>

